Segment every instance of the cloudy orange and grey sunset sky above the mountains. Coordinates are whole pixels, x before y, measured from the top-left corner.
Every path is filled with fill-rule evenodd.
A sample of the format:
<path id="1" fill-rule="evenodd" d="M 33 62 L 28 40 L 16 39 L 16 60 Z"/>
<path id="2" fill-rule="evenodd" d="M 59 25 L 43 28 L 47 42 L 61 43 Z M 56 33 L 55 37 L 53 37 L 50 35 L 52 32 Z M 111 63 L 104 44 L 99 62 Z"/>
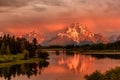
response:
<path id="1" fill-rule="evenodd" d="M 0 31 L 42 35 L 80 23 L 95 33 L 120 32 L 120 0 L 0 0 Z"/>

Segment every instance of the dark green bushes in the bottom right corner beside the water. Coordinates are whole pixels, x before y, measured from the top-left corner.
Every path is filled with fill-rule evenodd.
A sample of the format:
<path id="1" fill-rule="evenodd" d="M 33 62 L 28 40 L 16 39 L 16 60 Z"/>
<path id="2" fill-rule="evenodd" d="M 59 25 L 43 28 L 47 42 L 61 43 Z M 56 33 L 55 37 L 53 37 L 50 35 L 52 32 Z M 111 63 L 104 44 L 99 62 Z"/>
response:
<path id="1" fill-rule="evenodd" d="M 120 80 L 120 67 L 116 67 L 105 73 L 95 71 L 91 75 L 86 75 L 85 78 L 86 80 Z"/>

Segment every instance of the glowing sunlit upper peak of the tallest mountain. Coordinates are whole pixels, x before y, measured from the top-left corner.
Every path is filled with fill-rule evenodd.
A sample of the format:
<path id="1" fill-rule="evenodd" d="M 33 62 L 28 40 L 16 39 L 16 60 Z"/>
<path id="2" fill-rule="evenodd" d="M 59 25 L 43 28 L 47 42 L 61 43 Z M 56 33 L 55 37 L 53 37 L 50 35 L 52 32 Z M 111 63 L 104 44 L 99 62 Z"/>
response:
<path id="1" fill-rule="evenodd" d="M 66 36 L 79 44 L 80 40 L 84 41 L 86 38 L 91 38 L 94 36 L 94 33 L 88 31 L 87 27 L 74 23 L 65 32 L 58 33 L 58 36 Z"/>

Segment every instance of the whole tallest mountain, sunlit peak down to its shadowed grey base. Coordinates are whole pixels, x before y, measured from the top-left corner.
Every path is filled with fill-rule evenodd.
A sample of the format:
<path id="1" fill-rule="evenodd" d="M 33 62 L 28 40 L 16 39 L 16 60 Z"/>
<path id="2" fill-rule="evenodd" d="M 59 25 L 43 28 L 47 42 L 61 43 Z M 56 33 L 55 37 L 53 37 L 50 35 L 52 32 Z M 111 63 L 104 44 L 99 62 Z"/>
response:
<path id="1" fill-rule="evenodd" d="M 67 29 L 47 41 L 45 45 L 83 45 L 108 42 L 109 40 L 102 34 L 92 33 L 86 26 L 73 23 Z"/>

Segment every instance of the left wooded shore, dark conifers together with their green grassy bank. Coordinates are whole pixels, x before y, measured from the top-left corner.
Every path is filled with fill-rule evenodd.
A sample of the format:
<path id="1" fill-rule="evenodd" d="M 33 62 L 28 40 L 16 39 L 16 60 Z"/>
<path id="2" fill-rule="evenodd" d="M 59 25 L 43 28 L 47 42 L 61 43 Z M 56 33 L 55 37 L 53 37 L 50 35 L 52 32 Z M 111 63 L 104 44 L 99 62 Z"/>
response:
<path id="1" fill-rule="evenodd" d="M 31 62 L 31 60 L 46 60 L 49 54 L 40 49 L 37 39 L 30 43 L 25 38 L 4 35 L 0 37 L 0 63 Z M 31 60 L 30 60 L 31 59 Z"/>

